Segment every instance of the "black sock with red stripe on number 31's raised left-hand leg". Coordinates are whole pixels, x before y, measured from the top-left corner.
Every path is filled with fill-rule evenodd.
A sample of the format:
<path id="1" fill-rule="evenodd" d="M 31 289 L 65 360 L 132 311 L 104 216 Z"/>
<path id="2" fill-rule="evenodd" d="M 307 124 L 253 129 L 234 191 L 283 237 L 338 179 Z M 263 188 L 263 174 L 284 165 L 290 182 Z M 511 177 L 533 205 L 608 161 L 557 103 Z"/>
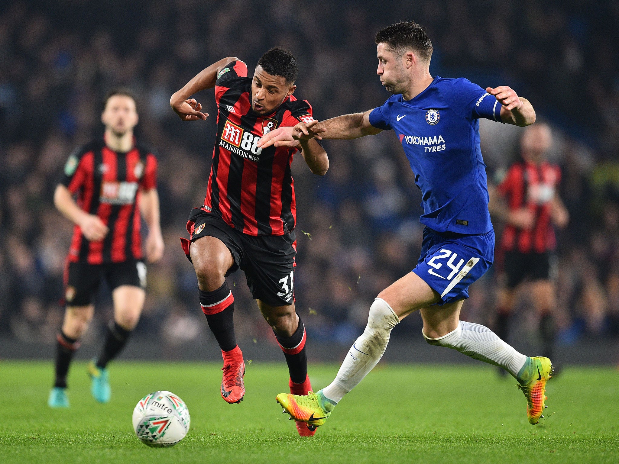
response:
<path id="1" fill-rule="evenodd" d="M 217 343 L 222 351 L 231 351 L 236 347 L 234 333 L 234 296 L 228 288 L 228 283 L 223 282 L 217 290 L 199 290 L 200 306 L 209 323 L 210 331 L 215 335 Z"/>

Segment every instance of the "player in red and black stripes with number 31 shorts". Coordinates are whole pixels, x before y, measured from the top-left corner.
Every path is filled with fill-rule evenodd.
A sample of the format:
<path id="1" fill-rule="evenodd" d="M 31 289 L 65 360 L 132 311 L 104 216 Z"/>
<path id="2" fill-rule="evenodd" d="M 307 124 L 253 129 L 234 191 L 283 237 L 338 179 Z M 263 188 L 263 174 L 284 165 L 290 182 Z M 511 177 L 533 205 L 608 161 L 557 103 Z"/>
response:
<path id="1" fill-rule="evenodd" d="M 183 121 L 206 119 L 191 95 L 215 88 L 217 142 L 204 205 L 189 217 L 189 240 L 181 239 L 193 262 L 200 303 L 223 356 L 222 397 L 238 403 L 245 394 L 243 354 L 236 344 L 234 298 L 225 276 L 240 268 L 253 297 L 284 351 L 290 389 L 311 389 L 305 354 L 305 326 L 295 313 L 295 190 L 290 171 L 300 150 L 314 174 L 325 174 L 327 153 L 316 140 L 297 147 L 258 147 L 262 135 L 280 126 L 312 121 L 312 108 L 293 97 L 297 61 L 272 48 L 258 61 L 253 77 L 238 58 L 204 69 L 172 95 L 170 105 Z M 303 423 L 301 435 L 313 435 Z"/>

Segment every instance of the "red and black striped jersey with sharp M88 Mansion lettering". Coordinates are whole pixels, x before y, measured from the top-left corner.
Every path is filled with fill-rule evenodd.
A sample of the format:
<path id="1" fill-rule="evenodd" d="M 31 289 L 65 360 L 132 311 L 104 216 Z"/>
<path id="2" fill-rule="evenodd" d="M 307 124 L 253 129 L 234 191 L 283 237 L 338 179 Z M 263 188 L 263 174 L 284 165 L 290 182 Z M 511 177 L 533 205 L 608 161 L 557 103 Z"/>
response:
<path id="1" fill-rule="evenodd" d="M 296 148 L 259 148 L 262 135 L 280 126 L 313 121 L 311 105 L 292 95 L 267 116 L 251 109 L 251 81 L 243 61 L 217 76 L 217 139 L 204 208 L 245 234 L 283 235 L 297 221 L 290 170 Z"/>

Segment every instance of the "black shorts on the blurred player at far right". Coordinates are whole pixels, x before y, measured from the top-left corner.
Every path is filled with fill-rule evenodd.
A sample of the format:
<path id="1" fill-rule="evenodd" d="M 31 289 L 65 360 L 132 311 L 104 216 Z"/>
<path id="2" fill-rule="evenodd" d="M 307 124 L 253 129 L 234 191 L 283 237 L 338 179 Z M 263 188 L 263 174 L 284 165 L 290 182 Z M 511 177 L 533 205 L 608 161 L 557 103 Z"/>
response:
<path id="1" fill-rule="evenodd" d="M 527 277 L 530 280 L 553 280 L 557 269 L 556 255 L 551 252 L 506 251 L 504 269 L 507 288 L 516 288 Z"/>

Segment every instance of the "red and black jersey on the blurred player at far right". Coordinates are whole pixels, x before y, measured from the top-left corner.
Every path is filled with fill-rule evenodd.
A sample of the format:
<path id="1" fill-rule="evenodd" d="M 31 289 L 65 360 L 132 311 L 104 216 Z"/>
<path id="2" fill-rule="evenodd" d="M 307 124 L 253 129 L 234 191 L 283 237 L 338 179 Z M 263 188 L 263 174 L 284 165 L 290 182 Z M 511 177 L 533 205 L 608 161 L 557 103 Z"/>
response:
<path id="1" fill-rule="evenodd" d="M 543 253 L 555 249 L 555 229 L 550 213 L 560 180 L 560 168 L 547 161 L 540 165 L 519 161 L 509 168 L 498 191 L 506 198 L 509 210 L 529 208 L 535 215 L 535 224 L 530 230 L 506 225 L 501 240 L 504 250 Z"/>

